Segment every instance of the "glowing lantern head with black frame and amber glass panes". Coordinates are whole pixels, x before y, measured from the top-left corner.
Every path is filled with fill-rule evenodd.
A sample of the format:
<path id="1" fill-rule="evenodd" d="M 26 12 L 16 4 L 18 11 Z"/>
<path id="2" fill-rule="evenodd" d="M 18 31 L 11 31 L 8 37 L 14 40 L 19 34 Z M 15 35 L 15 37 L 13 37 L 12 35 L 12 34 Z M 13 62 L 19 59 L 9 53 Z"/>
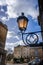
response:
<path id="1" fill-rule="evenodd" d="M 20 31 L 26 30 L 28 24 L 28 18 L 24 16 L 24 13 L 22 13 L 22 15 L 17 18 L 17 23 Z"/>

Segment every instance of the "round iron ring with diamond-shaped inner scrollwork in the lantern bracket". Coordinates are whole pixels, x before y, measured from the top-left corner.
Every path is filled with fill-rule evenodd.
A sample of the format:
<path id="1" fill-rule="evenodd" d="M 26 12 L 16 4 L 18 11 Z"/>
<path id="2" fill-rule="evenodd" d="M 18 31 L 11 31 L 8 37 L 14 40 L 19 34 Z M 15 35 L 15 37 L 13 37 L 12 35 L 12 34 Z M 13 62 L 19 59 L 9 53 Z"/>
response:
<path id="1" fill-rule="evenodd" d="M 26 37 L 27 44 L 36 44 L 38 42 L 38 35 L 28 34 Z"/>

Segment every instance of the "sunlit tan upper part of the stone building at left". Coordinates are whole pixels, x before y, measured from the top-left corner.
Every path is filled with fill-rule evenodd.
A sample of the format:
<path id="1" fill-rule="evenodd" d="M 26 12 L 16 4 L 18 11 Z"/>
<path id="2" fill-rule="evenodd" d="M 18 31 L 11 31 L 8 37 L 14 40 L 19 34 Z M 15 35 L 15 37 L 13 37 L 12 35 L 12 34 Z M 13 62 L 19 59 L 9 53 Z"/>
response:
<path id="1" fill-rule="evenodd" d="M 7 26 L 0 22 L 0 47 L 2 48 L 5 47 L 7 31 Z"/>

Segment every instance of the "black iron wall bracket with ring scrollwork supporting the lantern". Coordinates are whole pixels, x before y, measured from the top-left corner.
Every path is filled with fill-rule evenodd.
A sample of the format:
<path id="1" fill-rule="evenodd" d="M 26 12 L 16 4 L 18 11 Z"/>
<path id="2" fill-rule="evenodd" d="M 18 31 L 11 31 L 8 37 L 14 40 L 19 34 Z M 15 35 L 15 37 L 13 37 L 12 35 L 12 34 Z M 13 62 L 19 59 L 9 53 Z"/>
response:
<path id="1" fill-rule="evenodd" d="M 31 32 L 31 33 L 22 32 L 22 40 L 23 40 L 24 44 L 25 45 L 37 44 L 39 41 L 39 37 L 38 37 L 37 33 L 40 33 L 40 32 L 43 32 L 43 31 Z"/>

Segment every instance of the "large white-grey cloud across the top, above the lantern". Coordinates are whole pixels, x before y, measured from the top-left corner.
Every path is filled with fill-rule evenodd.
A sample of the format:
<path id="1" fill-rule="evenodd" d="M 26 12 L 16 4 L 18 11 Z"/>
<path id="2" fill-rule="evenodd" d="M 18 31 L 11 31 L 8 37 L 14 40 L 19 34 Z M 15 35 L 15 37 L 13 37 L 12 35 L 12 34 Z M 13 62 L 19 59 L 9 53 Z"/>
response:
<path id="1" fill-rule="evenodd" d="M 36 7 L 37 0 L 0 0 L 0 4 L 7 4 L 9 18 L 16 18 L 21 12 L 24 12 L 25 15 L 31 15 L 33 18 L 37 18 L 39 15 L 38 7 Z"/>

